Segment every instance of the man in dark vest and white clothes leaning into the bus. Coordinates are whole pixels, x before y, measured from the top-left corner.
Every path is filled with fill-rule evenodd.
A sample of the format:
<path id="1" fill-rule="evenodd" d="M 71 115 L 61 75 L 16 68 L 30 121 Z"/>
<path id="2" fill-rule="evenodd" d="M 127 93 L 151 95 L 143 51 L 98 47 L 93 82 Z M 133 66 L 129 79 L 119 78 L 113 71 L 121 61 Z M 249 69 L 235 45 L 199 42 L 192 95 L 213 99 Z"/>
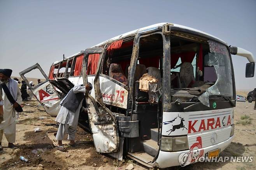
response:
<path id="1" fill-rule="evenodd" d="M 58 141 L 57 149 L 65 151 L 65 147 L 62 144 L 64 135 L 68 134 L 69 145 L 75 145 L 75 132 L 77 129 L 78 118 L 82 103 L 84 100 L 84 93 L 86 90 L 91 90 L 93 87 L 91 83 L 85 87 L 82 85 L 76 85 L 73 87 L 65 98 L 60 102 L 61 108 L 56 117 L 56 122 L 60 123 L 58 132 L 56 134 L 56 140 Z"/>

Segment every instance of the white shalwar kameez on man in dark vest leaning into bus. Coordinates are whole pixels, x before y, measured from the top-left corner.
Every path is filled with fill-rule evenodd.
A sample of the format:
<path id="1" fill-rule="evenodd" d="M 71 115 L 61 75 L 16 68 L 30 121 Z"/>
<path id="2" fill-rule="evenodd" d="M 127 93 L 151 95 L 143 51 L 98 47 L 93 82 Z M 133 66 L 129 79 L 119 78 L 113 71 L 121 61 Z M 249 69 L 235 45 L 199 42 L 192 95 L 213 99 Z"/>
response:
<path id="1" fill-rule="evenodd" d="M 85 92 L 86 88 L 81 85 L 76 85 L 71 90 L 73 90 L 74 93 L 81 93 L 81 92 Z M 60 102 L 60 104 L 62 104 L 65 98 Z M 68 140 L 70 141 L 75 140 L 75 132 L 77 129 L 79 113 L 80 113 L 80 109 L 82 108 L 83 101 L 84 99 L 82 99 L 82 101 L 80 102 L 75 112 L 72 112 L 67 108 L 65 108 L 64 106 L 61 106 L 60 111 L 55 119 L 56 122 L 60 123 L 58 132 L 56 134 L 57 141 L 62 141 L 66 133 L 68 133 Z"/>

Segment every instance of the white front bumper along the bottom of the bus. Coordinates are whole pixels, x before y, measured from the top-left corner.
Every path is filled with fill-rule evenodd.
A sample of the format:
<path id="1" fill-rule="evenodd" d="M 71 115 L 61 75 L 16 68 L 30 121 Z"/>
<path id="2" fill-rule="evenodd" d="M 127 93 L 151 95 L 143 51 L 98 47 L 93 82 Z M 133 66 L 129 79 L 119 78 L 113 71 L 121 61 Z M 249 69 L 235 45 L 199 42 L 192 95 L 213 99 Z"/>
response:
<path id="1" fill-rule="evenodd" d="M 234 135 L 231 136 L 228 140 L 220 142 L 218 144 L 203 147 L 203 156 L 205 157 L 205 154 L 207 154 L 209 151 L 213 151 L 214 149 L 220 149 L 222 152 L 226 147 L 228 147 L 233 139 Z M 190 150 L 185 151 L 177 151 L 177 152 L 165 152 L 160 151 L 158 158 L 156 159 L 156 166 L 159 168 L 167 168 L 167 167 L 174 167 L 174 166 L 180 166 L 181 163 L 179 161 L 179 156 L 181 154 L 185 154 L 190 152 Z"/>

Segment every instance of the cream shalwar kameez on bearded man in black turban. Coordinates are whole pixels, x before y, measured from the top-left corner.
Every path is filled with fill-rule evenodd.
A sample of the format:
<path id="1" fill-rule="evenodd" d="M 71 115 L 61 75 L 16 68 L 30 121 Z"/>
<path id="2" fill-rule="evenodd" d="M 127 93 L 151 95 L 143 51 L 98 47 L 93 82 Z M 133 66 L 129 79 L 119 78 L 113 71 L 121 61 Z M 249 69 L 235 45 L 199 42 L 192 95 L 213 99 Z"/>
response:
<path id="1" fill-rule="evenodd" d="M 7 87 L 9 87 L 9 81 L 12 80 L 8 80 L 6 84 Z M 13 80 L 14 82 L 15 80 Z M 12 82 L 12 83 L 13 83 Z M 16 93 L 14 94 L 14 96 L 16 95 L 16 97 L 14 97 L 14 100 L 16 98 L 16 102 L 20 105 L 22 102 L 22 98 L 21 98 L 21 91 L 19 90 L 18 87 L 18 83 L 13 84 L 13 85 L 17 85 L 17 88 L 12 88 L 16 89 L 15 92 L 13 92 L 12 90 L 10 90 L 11 94 L 12 93 Z M 2 89 L 2 99 L 4 100 L 4 121 L 2 121 L 2 123 L 0 123 L 0 141 L 2 141 L 3 139 L 3 134 L 5 135 L 7 141 L 9 143 L 14 143 L 15 142 L 15 137 L 16 137 L 16 111 L 14 109 L 14 107 L 12 106 L 11 102 L 7 99 L 7 96 L 5 95 L 4 90 Z"/>

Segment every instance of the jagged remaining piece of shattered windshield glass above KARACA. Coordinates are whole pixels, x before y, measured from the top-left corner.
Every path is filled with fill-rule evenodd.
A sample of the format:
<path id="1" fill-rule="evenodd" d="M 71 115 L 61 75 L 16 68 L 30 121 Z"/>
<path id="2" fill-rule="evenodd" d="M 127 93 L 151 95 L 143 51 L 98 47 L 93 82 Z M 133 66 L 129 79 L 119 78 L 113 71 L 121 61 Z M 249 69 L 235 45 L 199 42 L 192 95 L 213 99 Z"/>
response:
<path id="1" fill-rule="evenodd" d="M 209 107 L 210 95 L 225 95 L 233 99 L 233 83 L 231 62 L 228 49 L 225 45 L 209 40 L 209 57 L 205 57 L 205 64 L 214 66 L 217 80 L 214 85 L 207 88 L 206 92 L 198 97 L 199 101 Z"/>

